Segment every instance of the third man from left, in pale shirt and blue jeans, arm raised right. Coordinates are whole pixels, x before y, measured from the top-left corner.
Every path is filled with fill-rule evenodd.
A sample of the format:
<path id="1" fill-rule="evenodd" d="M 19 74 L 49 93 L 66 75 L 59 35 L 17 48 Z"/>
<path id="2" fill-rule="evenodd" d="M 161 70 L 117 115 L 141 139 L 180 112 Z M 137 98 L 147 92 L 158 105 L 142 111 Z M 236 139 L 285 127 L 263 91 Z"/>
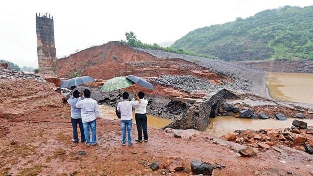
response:
<path id="1" fill-rule="evenodd" d="M 133 120 L 133 107 L 138 105 L 141 100 L 136 95 L 138 101 L 128 101 L 129 94 L 127 92 L 123 93 L 123 100 L 117 104 L 117 111 L 121 112 L 121 126 L 122 126 L 122 146 L 126 143 L 126 129 L 128 136 L 128 146 L 132 146 L 132 120 Z"/>

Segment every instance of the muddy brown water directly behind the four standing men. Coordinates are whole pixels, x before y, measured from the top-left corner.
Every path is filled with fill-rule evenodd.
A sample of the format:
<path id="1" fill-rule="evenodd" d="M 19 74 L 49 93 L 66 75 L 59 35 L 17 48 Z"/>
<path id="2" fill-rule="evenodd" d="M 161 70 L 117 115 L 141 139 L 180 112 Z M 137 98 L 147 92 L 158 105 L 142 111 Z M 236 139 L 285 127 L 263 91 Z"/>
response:
<path id="1" fill-rule="evenodd" d="M 99 105 L 99 111 L 101 113 L 102 118 L 110 119 L 110 120 L 118 119 L 115 114 L 114 107 L 110 107 L 106 105 Z M 147 114 L 147 118 L 148 118 L 147 126 L 157 128 L 157 129 L 163 128 L 172 122 L 172 120 L 168 120 L 168 119 L 164 119 L 164 118 L 160 118 L 160 117 L 156 117 L 156 116 L 152 116 L 148 114 Z M 135 112 L 133 112 L 133 123 L 136 123 Z"/>

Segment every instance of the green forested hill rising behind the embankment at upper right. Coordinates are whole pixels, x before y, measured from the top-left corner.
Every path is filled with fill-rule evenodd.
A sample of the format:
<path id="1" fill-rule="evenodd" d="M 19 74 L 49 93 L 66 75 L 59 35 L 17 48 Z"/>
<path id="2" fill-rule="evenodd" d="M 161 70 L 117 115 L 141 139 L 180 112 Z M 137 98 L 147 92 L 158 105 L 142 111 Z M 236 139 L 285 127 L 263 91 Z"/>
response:
<path id="1" fill-rule="evenodd" d="M 227 61 L 313 59 L 313 6 L 285 6 L 199 28 L 171 47 Z"/>

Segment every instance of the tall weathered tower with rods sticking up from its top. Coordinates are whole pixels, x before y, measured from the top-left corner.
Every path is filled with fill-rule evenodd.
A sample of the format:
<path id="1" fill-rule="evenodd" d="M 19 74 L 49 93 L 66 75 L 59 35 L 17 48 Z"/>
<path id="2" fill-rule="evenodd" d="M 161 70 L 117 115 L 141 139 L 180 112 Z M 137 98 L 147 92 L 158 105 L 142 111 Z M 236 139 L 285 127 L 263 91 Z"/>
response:
<path id="1" fill-rule="evenodd" d="M 57 73 L 57 55 L 54 46 L 53 16 L 48 13 L 40 16 L 36 13 L 37 54 L 39 73 Z"/>

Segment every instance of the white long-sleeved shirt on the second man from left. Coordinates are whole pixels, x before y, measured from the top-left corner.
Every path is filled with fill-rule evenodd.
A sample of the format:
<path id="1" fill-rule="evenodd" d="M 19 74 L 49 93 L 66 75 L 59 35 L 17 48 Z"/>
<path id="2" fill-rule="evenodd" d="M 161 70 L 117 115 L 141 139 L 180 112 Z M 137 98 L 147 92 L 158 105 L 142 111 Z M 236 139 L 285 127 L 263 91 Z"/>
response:
<path id="1" fill-rule="evenodd" d="M 75 106 L 81 108 L 82 123 L 91 122 L 100 117 L 98 103 L 92 98 L 79 98 Z"/>

